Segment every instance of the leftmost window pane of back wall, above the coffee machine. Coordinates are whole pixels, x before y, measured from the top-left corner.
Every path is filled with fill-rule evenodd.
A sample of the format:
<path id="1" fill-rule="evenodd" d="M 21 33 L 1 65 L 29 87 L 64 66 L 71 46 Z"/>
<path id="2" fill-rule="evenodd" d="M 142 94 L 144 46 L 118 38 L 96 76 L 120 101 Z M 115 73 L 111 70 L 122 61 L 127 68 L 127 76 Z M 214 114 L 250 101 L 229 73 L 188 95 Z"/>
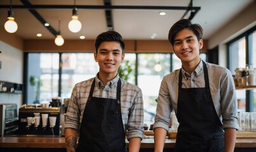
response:
<path id="1" fill-rule="evenodd" d="M 58 53 L 29 53 L 27 104 L 58 96 Z"/>

